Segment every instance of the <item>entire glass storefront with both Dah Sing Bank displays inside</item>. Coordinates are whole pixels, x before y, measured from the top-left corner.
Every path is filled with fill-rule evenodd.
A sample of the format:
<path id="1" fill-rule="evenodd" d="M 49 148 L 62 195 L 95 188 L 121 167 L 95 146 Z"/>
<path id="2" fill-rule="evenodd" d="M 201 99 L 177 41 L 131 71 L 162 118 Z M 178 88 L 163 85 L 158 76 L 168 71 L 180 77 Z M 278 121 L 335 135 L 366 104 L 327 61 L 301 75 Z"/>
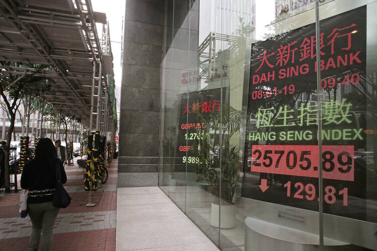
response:
<path id="1" fill-rule="evenodd" d="M 375 13 L 165 0 L 158 184 L 222 250 L 377 250 Z"/>

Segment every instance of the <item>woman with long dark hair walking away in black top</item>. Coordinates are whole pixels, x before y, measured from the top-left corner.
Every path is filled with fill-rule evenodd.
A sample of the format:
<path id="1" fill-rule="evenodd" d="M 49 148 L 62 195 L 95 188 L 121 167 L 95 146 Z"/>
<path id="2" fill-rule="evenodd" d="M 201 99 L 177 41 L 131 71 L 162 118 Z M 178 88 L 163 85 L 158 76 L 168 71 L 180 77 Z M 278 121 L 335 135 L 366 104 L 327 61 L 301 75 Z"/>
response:
<path id="1" fill-rule="evenodd" d="M 35 149 L 35 159 L 27 162 L 21 176 L 21 187 L 29 190 L 28 214 L 32 222 L 29 250 L 38 250 L 41 232 L 41 250 L 50 250 L 58 207 L 52 205 L 57 168 L 61 182 L 67 181 L 63 163 L 57 158 L 54 144 L 44 138 Z"/>

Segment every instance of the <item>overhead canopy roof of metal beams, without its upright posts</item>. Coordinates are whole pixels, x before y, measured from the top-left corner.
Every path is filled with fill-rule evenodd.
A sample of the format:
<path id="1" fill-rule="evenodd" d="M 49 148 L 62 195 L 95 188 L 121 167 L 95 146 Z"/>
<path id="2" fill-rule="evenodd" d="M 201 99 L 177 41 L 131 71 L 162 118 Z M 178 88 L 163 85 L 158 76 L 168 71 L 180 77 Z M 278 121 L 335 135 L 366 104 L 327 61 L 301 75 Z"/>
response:
<path id="1" fill-rule="evenodd" d="M 62 114 L 88 124 L 93 59 L 102 63 L 102 75 L 114 75 L 112 60 L 103 57 L 111 53 L 103 48 L 104 44 L 110 47 L 110 36 L 109 43 L 103 41 L 106 35 L 100 40 L 96 22 L 106 23 L 106 15 L 93 12 L 89 0 L 1 1 L 0 61 L 48 65 L 51 69 L 39 75 L 53 79 L 54 84 L 41 98 Z M 98 73 L 100 64 L 96 65 Z M 14 74 L 33 71 L 1 68 Z M 103 84 L 109 86 L 106 79 Z"/>

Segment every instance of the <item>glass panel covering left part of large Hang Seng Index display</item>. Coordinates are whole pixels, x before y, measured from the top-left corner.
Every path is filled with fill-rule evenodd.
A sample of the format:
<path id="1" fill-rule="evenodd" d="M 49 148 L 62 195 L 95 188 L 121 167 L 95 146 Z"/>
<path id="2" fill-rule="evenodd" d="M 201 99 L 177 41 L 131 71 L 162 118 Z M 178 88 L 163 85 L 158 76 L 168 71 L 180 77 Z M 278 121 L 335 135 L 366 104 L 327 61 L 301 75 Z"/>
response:
<path id="1" fill-rule="evenodd" d="M 245 222 L 244 249 L 316 250 L 316 59 L 315 51 L 304 50 L 315 37 L 314 5 L 255 1 L 251 13 L 255 25 L 245 58 L 249 78 L 242 91 L 244 144 L 235 200 L 236 218 Z M 236 230 L 230 239 L 242 243 Z"/>

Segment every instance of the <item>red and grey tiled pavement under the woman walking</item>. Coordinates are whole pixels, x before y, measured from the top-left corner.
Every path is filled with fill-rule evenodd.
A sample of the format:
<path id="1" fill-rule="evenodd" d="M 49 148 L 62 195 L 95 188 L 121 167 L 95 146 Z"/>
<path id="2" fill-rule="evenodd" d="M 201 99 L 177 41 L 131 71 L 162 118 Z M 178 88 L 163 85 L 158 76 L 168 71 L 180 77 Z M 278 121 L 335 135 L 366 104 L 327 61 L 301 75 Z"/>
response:
<path id="1" fill-rule="evenodd" d="M 76 159 L 79 158 L 75 158 L 74 166 L 65 166 L 68 181 L 64 187 L 72 202 L 59 211 L 52 250 L 115 250 L 118 161 L 113 160 L 108 166 L 106 184 L 93 192 L 96 206 L 85 207 L 88 193 L 84 191 L 83 171 L 77 167 Z M 20 218 L 16 205 L 19 193 L 0 193 L 1 250 L 27 250 L 31 222 L 29 217 Z"/>

